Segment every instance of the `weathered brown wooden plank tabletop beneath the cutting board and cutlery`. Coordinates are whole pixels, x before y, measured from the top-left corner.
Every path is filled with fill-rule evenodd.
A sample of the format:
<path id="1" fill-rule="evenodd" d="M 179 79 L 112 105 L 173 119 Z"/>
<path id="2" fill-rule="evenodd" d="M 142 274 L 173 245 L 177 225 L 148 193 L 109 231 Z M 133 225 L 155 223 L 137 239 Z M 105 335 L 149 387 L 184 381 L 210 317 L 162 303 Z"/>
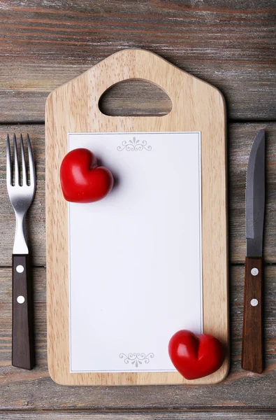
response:
<path id="1" fill-rule="evenodd" d="M 0 1 L 0 419 L 274 419 L 276 416 L 276 8 L 273 0 Z M 47 369 L 45 98 L 112 52 L 147 48 L 224 93 L 228 108 L 231 372 L 216 386 L 63 387 Z M 164 115 L 170 100 L 124 82 L 101 99 L 111 115 Z M 20 123 L 20 125 L 19 125 Z M 266 370 L 240 368 L 245 172 L 266 129 Z M 33 257 L 37 365 L 10 366 L 14 216 L 6 195 L 5 137 L 29 132 L 38 184 L 27 220 Z"/>

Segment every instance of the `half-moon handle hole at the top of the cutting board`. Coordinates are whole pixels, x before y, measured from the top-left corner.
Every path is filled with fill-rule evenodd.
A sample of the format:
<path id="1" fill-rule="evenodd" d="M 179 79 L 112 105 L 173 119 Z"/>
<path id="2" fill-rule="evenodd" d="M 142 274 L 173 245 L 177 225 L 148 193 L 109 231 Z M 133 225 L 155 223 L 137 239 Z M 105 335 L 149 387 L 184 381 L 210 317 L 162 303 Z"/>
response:
<path id="1" fill-rule="evenodd" d="M 99 110 L 106 116 L 166 116 L 173 104 L 164 90 L 141 79 L 112 85 L 99 99 Z"/>

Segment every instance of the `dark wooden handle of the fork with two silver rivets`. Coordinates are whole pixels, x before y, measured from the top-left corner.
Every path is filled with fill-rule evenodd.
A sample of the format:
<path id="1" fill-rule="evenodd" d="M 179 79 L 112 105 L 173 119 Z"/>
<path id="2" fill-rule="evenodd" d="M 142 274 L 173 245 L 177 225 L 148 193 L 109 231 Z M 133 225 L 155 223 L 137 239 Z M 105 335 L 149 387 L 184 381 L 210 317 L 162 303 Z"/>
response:
<path id="1" fill-rule="evenodd" d="M 12 364 L 24 369 L 34 367 L 33 299 L 28 257 L 13 255 Z"/>

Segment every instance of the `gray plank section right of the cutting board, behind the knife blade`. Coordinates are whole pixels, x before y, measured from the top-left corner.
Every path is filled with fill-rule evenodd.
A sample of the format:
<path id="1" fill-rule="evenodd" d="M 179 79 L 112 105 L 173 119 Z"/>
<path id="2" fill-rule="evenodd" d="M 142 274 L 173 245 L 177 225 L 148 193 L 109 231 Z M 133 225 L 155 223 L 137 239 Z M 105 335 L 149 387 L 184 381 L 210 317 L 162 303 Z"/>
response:
<path id="1" fill-rule="evenodd" d="M 228 214 L 232 262 L 245 260 L 245 185 L 252 141 L 266 129 L 266 216 L 264 258 L 276 262 L 276 124 L 233 124 L 228 127 Z"/>

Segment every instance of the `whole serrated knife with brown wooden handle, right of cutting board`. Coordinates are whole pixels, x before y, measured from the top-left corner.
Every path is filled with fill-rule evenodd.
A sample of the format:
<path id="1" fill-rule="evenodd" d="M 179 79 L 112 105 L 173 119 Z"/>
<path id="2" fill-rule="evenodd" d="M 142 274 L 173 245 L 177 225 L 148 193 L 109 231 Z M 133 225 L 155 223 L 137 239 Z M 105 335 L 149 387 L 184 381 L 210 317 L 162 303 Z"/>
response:
<path id="1" fill-rule="evenodd" d="M 245 193 L 245 295 L 242 332 L 242 369 L 263 371 L 262 255 L 265 211 L 265 130 L 254 139 L 247 166 Z"/>

